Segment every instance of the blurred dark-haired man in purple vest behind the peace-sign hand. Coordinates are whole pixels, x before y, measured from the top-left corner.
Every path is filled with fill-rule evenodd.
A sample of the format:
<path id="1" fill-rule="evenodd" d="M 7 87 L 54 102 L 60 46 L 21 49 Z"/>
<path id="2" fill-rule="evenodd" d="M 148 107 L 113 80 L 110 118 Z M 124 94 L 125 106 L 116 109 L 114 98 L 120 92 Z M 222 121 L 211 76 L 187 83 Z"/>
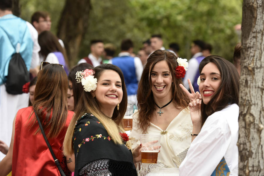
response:
<path id="1" fill-rule="evenodd" d="M 194 87 L 194 91 L 199 91 L 199 88 L 197 86 L 197 78 L 199 76 L 199 64 L 204 59 L 202 50 L 204 49 L 204 41 L 202 40 L 194 40 L 191 45 L 191 53 L 192 58 L 189 59 L 188 63 L 188 70 L 186 71 L 186 74 L 183 78 L 183 84 L 184 86 L 189 89 L 188 79 L 191 80 L 192 85 Z"/>

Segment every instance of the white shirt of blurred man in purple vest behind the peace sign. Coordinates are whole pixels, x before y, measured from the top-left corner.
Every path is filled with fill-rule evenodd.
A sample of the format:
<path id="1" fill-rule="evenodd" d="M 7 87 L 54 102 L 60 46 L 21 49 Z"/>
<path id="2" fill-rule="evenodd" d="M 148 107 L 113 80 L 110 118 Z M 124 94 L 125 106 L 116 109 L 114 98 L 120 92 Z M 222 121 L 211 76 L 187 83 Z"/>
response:
<path id="1" fill-rule="evenodd" d="M 197 71 L 199 70 L 199 63 L 197 61 L 197 57 L 202 56 L 203 53 L 202 52 L 198 52 L 196 54 L 193 55 L 193 57 L 191 59 L 188 60 L 188 70 L 186 71 L 186 74 L 183 78 L 183 85 L 185 86 L 185 88 L 188 90 L 189 89 L 189 84 L 188 84 L 188 79 L 191 80 L 192 85 L 195 84 L 197 80 L 194 80 L 195 75 L 197 73 Z"/>

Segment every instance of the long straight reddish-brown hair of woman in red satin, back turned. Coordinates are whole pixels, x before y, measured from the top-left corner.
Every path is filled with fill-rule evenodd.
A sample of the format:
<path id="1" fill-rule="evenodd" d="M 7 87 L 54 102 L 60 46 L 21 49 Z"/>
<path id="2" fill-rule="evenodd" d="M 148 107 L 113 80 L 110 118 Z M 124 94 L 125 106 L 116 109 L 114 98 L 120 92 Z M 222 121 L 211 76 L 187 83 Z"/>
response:
<path id="1" fill-rule="evenodd" d="M 47 137 L 56 137 L 64 127 L 68 114 L 67 88 L 67 74 L 62 66 L 48 64 L 38 73 L 33 108 L 43 129 L 49 129 Z M 32 122 L 33 127 L 37 119 L 34 118 Z M 40 128 L 38 132 L 41 132 Z"/>

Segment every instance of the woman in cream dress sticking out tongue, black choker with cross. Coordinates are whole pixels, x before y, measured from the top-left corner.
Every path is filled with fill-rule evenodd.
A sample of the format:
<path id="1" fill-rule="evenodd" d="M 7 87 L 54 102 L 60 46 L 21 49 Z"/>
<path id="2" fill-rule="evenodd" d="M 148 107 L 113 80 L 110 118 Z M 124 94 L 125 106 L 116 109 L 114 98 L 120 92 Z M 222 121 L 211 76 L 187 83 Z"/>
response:
<path id="1" fill-rule="evenodd" d="M 180 88 L 187 59 L 156 50 L 147 60 L 138 86 L 138 112 L 133 115 L 132 148 L 140 134 L 161 134 L 157 164 L 138 163 L 138 175 L 178 175 L 178 167 L 191 143 L 192 120 L 189 98 Z M 199 93 L 198 93 L 199 94 Z M 198 96 L 199 97 L 199 96 Z"/>

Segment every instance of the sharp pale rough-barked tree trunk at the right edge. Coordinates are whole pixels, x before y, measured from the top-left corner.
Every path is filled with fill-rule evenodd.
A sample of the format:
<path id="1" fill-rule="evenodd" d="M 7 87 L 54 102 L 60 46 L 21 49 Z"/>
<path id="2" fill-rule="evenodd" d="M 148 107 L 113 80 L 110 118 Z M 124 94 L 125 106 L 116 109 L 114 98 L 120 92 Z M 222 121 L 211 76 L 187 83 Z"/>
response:
<path id="1" fill-rule="evenodd" d="M 264 2 L 243 0 L 239 176 L 264 175 Z"/>

